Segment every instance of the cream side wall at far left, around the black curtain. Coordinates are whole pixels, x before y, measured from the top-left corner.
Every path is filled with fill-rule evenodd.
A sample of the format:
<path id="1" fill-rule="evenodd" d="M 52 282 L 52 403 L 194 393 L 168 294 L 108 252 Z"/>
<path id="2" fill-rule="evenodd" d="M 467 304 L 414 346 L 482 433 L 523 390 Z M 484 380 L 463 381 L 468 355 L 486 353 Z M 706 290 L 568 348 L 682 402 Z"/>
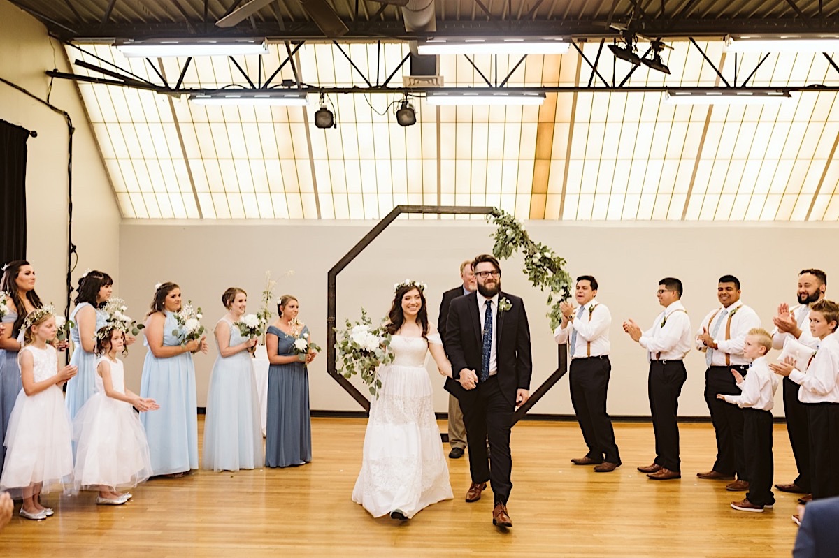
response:
<path id="1" fill-rule="evenodd" d="M 0 0 L 0 77 L 46 100 L 45 70 L 70 71 L 64 47 L 50 39 L 28 13 Z M 76 279 L 87 267 L 117 278 L 120 214 L 91 127 L 68 80 L 55 80 L 50 104 L 70 114 L 73 146 L 73 241 L 78 246 Z M 38 274 L 44 302 L 63 308 L 67 261 L 67 125 L 60 114 L 0 82 L 0 119 L 38 132 L 27 142 L 27 256 Z M 118 286 L 118 282 L 117 282 Z"/>

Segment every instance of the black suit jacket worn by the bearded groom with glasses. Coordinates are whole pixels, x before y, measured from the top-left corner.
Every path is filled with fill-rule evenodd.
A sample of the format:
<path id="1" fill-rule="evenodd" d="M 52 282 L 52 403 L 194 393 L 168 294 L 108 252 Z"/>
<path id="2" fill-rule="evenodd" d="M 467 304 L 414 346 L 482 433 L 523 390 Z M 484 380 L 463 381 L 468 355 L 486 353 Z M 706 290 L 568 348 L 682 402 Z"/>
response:
<path id="1" fill-rule="evenodd" d="M 530 353 L 530 328 L 524 301 L 508 292 L 500 292 L 498 300 L 507 298 L 509 310 L 499 312 L 495 322 L 495 352 L 498 364 L 498 387 L 511 406 L 516 404 L 517 390 L 530 390 L 533 362 Z M 446 379 L 446 391 L 461 404 L 468 405 L 477 390 L 464 390 L 458 381 L 461 369 L 480 374 L 482 364 L 482 318 L 477 307 L 477 292 L 457 297 L 449 306 L 446 322 L 446 353 L 454 378 Z"/>

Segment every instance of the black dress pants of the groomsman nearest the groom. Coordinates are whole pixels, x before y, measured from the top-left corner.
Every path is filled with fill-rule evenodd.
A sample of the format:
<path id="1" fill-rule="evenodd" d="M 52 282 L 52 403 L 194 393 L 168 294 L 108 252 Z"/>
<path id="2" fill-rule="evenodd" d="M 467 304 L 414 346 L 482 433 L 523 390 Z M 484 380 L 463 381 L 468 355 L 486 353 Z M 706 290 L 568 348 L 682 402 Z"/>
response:
<path id="1" fill-rule="evenodd" d="M 571 404 L 588 447 L 586 457 L 621 463 L 606 397 L 612 364 L 608 356 L 571 359 Z"/>

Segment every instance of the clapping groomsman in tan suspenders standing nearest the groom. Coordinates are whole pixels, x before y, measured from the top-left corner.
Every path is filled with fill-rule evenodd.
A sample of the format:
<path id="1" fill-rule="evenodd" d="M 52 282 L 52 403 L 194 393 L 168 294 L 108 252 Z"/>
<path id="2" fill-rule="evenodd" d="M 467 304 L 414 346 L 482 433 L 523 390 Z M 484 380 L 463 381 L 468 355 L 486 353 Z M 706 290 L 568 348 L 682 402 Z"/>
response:
<path id="1" fill-rule="evenodd" d="M 588 447 L 585 457 L 571 459 L 575 465 L 594 465 L 596 473 L 611 473 L 620 467 L 612 419 L 606 411 L 606 395 L 612 364 L 609 362 L 609 326 L 612 313 L 597 302 L 597 279 L 577 277 L 575 308 L 561 302 L 562 323 L 556 328 L 557 344 L 568 344 L 571 356 L 571 404 Z M 569 342 L 570 338 L 570 342 Z"/>

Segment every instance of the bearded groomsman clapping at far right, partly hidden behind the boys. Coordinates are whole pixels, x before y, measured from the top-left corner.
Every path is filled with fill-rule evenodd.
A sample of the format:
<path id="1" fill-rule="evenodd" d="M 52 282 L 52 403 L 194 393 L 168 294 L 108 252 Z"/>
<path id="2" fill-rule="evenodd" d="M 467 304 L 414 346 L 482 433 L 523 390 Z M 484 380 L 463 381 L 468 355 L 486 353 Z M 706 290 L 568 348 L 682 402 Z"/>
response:
<path id="1" fill-rule="evenodd" d="M 778 307 L 778 315 L 772 318 L 775 328 L 772 332 L 772 346 L 783 349 L 789 339 L 798 339 L 805 345 L 816 348 L 816 339 L 810 334 L 810 307 L 825 297 L 827 274 L 821 269 L 805 269 L 798 274 L 798 306 L 793 310 L 785 303 Z M 798 477 L 789 484 L 775 484 L 783 492 L 808 494 L 810 489 L 810 432 L 807 422 L 807 406 L 798 400 L 800 385 L 784 377 L 784 415 L 787 434 Z"/>

